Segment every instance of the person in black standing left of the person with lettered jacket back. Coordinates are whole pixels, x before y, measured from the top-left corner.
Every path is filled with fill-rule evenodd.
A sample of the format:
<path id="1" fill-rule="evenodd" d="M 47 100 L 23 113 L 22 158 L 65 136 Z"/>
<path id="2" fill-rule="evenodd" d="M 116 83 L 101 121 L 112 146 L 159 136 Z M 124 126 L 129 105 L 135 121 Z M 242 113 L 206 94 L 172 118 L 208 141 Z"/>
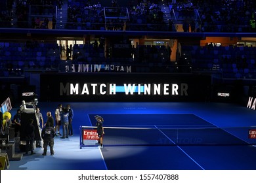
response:
<path id="1" fill-rule="evenodd" d="M 26 127 L 26 154 L 31 151 L 31 155 L 35 154 L 33 152 L 33 141 L 35 138 L 35 127 L 33 126 L 33 119 L 28 120 L 28 125 Z"/>

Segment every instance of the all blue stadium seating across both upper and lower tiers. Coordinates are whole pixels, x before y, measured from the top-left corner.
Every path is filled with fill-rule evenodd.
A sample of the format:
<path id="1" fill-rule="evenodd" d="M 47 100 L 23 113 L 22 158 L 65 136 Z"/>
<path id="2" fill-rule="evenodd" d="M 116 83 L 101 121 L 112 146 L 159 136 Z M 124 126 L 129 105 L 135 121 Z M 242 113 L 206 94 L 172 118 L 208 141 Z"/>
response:
<path id="1" fill-rule="evenodd" d="M 37 7 L 33 9 L 33 16 L 52 16 L 54 12 L 52 7 L 57 7 L 60 10 L 61 5 L 58 1 L 43 1 L 44 9 L 40 11 L 39 5 L 36 1 L 31 1 L 24 4 L 23 1 L 16 3 L 16 15 L 20 13 L 30 12 L 28 7 L 32 5 Z M 135 30 L 135 31 L 166 31 L 167 23 L 163 22 L 165 12 L 160 8 L 160 3 L 150 8 L 152 3 L 156 1 L 140 1 L 138 5 L 131 4 L 130 7 L 112 8 L 107 5 L 95 3 L 89 4 L 89 1 L 73 0 L 64 1 L 68 3 L 68 21 L 66 22 L 66 29 L 79 30 Z M 128 1 L 127 1 L 128 2 Z M 126 2 L 126 5 L 128 3 Z M 171 1 L 164 1 L 171 5 Z M 102 2 L 103 3 L 103 2 Z M 122 1 L 125 4 L 125 1 Z M 51 7 L 51 8 L 50 8 Z M 177 18 L 194 18 L 199 20 L 200 31 L 214 31 L 214 32 L 243 32 L 253 31 L 250 20 L 255 18 L 256 6 L 254 1 L 182 1 L 171 7 L 173 11 L 169 12 Z M 15 22 L 10 22 L 10 15 L 8 8 L 1 7 L 2 12 L 0 18 L 2 20 L 0 27 L 15 28 L 18 25 Z M 127 12 L 126 12 L 127 9 Z M 57 10 L 57 11 L 58 11 Z M 197 10 L 197 11 L 195 11 Z M 106 12 L 108 16 L 106 16 Z M 197 15 L 195 13 L 198 12 Z M 239 12 L 239 14 L 237 13 Z M 127 15 L 128 13 L 128 15 Z M 174 14 L 173 14 L 174 13 Z M 116 16 L 114 16 L 116 14 Z M 118 16 L 117 16 L 118 14 Z M 121 14 L 121 15 L 120 15 Z M 229 14 L 229 16 L 226 16 Z M 239 16 L 241 15 L 241 16 Z M 242 16 L 245 15 L 245 16 Z M 111 17 L 112 18 L 109 18 Z M 126 25 L 123 21 L 116 22 L 118 18 L 126 17 Z M 128 18 L 129 16 L 129 18 Z M 199 17 L 198 17 L 199 16 Z M 30 16 L 28 16 L 30 17 Z M 107 18 L 108 17 L 108 18 Z M 30 17 L 31 18 L 31 17 Z M 29 19 L 21 21 L 29 21 Z M 229 19 L 227 19 L 229 18 Z M 18 20 L 18 18 L 14 18 Z M 13 21 L 14 21 L 13 20 Z M 176 22 L 177 23 L 177 22 Z M 119 28 L 120 24 L 123 28 Z M 159 26 L 158 26 L 159 25 Z M 161 26 L 163 25 L 163 27 Z M 19 26 L 17 26 L 19 27 Z M 118 27 L 118 28 L 117 28 Z M 124 28 L 125 27 L 125 28 Z M 209 50 L 207 46 L 186 45 L 181 46 L 181 58 L 177 58 L 176 63 L 169 65 L 169 69 L 164 71 L 177 72 L 175 64 L 191 67 L 191 69 L 182 69 L 182 72 L 221 72 L 225 78 L 255 78 L 255 47 L 247 46 L 214 46 L 213 50 Z M 129 51 L 127 51 L 129 52 Z M 125 55 L 129 53 L 125 52 Z M 1 75 L 8 75 L 20 70 L 28 69 L 53 69 L 58 68 L 60 63 L 60 47 L 58 44 L 47 42 L 28 42 L 28 41 L 1 41 L 0 42 Z M 163 71 L 158 69 L 165 67 L 167 59 L 165 47 L 156 45 L 138 45 L 135 48 L 135 54 L 128 58 L 120 58 L 118 56 L 106 56 L 104 48 L 95 48 L 92 44 L 75 44 L 72 54 L 72 61 L 74 63 L 119 63 L 129 65 L 143 65 L 145 69 L 138 69 L 138 71 Z M 149 69 L 148 69 L 149 68 Z M 171 69 L 170 69 L 171 68 Z M 181 70 L 179 70 L 180 72 Z"/>

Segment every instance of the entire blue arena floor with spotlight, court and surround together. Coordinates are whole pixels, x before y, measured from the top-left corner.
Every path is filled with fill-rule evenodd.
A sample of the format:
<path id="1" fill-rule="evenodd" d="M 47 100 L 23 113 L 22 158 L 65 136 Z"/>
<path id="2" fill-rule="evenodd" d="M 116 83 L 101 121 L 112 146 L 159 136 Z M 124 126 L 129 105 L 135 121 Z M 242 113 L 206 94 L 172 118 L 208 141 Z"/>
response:
<path id="1" fill-rule="evenodd" d="M 35 155 L 10 161 L 9 169 L 256 169 L 256 141 L 248 138 L 249 129 L 256 129 L 256 113 L 250 108 L 232 103 L 69 104 L 74 110 L 74 136 L 55 137 L 54 156 L 49 150 L 42 156 L 43 150 L 36 148 Z M 47 111 L 54 114 L 57 105 L 39 102 L 44 120 Z M 95 125 L 96 114 L 104 118 L 104 148 L 80 148 L 79 127 Z"/>

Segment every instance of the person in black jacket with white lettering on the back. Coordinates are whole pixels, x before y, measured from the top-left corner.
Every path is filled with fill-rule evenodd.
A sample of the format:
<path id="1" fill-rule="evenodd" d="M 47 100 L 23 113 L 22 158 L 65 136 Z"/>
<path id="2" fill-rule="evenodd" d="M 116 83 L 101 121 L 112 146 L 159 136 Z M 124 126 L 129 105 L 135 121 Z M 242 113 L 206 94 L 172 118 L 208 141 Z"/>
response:
<path id="1" fill-rule="evenodd" d="M 47 121 L 45 128 L 43 128 L 41 137 L 43 139 L 43 156 L 47 154 L 47 146 L 50 147 L 51 156 L 54 155 L 53 151 L 53 138 L 55 137 L 54 128 L 51 127 L 51 122 Z"/>

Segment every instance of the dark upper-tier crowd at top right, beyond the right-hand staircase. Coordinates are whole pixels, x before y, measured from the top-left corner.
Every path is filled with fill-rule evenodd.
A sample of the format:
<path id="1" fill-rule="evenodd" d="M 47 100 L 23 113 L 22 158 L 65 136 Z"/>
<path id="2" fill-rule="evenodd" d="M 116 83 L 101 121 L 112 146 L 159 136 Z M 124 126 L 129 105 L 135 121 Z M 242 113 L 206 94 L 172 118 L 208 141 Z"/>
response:
<path id="1" fill-rule="evenodd" d="M 180 4 L 176 11 L 188 14 L 198 10 L 197 20 L 200 20 L 198 31 L 255 32 L 256 5 L 253 0 L 190 0 L 186 2 L 189 3 Z"/>

